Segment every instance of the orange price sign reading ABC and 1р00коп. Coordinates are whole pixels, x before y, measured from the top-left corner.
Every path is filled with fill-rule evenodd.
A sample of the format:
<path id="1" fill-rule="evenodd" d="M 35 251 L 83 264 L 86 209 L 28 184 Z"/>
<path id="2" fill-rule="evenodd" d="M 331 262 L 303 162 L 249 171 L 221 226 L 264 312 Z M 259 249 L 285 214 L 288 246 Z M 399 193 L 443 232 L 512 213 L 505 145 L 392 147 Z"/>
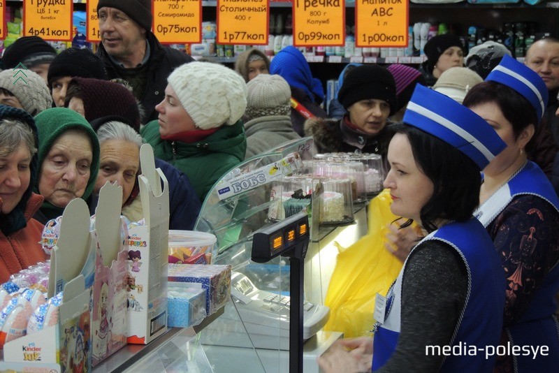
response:
<path id="1" fill-rule="evenodd" d="M 409 1 L 355 0 L 357 47 L 407 47 Z"/>

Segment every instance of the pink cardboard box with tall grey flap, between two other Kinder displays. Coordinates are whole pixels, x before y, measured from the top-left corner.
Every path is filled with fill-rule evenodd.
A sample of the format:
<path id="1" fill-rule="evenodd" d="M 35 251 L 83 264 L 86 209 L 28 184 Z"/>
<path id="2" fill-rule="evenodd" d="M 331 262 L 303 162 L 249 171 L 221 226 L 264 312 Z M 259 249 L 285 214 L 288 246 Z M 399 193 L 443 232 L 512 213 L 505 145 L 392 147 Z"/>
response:
<path id="1" fill-rule="evenodd" d="M 126 345 L 128 227 L 120 216 L 122 187 L 107 182 L 99 191 L 93 237 L 96 242 L 92 342 L 95 366 Z"/>

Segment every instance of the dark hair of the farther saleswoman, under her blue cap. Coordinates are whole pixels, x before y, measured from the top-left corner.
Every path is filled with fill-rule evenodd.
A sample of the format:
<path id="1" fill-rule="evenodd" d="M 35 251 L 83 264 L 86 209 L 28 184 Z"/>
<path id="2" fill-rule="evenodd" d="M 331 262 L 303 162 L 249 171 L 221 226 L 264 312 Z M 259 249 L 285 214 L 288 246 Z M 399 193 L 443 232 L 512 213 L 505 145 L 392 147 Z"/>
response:
<path id="1" fill-rule="evenodd" d="M 502 115 L 512 124 L 515 140 L 528 125 L 537 126 L 539 123 L 535 108 L 524 96 L 511 87 L 491 80 L 472 87 L 467 92 L 463 105 L 472 108 L 491 102 L 498 105 Z"/>

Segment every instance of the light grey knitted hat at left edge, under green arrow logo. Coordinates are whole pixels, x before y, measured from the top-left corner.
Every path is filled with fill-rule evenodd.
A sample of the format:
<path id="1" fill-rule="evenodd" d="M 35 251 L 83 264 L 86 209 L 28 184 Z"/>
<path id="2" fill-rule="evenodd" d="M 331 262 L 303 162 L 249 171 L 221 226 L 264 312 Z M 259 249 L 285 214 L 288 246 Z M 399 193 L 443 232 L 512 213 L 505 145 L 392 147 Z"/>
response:
<path id="1" fill-rule="evenodd" d="M 31 70 L 8 68 L 0 72 L 0 88 L 11 92 L 32 117 L 52 108 L 52 97 L 45 80 Z"/>

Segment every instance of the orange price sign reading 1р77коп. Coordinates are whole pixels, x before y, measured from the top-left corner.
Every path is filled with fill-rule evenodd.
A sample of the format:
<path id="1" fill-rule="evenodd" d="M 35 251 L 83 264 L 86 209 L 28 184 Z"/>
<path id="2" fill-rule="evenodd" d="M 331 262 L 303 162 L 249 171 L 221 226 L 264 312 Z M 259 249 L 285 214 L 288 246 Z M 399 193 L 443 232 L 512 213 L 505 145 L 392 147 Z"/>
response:
<path id="1" fill-rule="evenodd" d="M 268 44 L 268 0 L 217 0 L 217 43 Z"/>

